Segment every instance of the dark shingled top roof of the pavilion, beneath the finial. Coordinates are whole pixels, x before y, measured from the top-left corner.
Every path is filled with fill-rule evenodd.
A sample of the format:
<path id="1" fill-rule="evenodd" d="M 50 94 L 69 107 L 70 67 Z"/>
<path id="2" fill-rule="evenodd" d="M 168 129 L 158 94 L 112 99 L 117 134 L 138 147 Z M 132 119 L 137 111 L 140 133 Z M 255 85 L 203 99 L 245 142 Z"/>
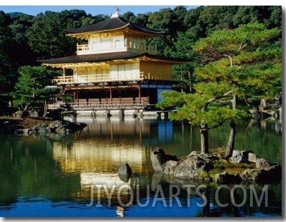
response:
<path id="1" fill-rule="evenodd" d="M 104 32 L 104 31 L 110 31 L 110 30 L 118 30 L 126 26 L 131 27 L 132 30 L 137 30 L 139 32 L 146 32 L 152 35 L 162 35 L 165 33 L 160 30 L 153 30 L 148 27 L 142 27 L 142 26 L 136 25 L 135 23 L 131 23 L 122 17 L 110 18 L 108 20 L 104 20 L 94 25 L 89 25 L 86 27 L 79 27 L 73 30 L 67 30 L 67 32 L 69 32 L 70 34 L 84 33 L 84 32 Z"/>

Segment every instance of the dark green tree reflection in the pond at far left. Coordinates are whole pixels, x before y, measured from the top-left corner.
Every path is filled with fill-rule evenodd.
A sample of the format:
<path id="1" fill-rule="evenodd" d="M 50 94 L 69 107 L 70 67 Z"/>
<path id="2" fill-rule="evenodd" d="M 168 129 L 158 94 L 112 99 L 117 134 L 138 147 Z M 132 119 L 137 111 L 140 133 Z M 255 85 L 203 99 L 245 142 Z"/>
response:
<path id="1" fill-rule="evenodd" d="M 54 162 L 51 143 L 44 137 L 9 136 L 0 156 L 1 205 L 17 202 L 19 193 L 23 197 L 41 195 L 52 201 L 66 200 L 80 187 L 78 175 L 63 174 Z"/>

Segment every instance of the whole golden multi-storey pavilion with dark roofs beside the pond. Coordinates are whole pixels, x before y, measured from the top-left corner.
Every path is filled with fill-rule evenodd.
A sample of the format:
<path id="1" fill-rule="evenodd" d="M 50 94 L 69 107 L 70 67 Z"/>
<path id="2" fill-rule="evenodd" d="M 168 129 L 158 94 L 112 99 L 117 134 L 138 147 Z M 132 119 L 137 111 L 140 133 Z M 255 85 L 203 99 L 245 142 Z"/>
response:
<path id="1" fill-rule="evenodd" d="M 73 56 L 40 61 L 63 70 L 54 79 L 63 99 L 55 99 L 49 109 L 65 103 L 67 95 L 82 110 L 147 108 L 161 100 L 163 90 L 173 89 L 172 66 L 186 63 L 156 55 L 156 46 L 147 39 L 164 32 L 130 23 L 118 15 L 118 8 L 108 20 L 68 30 L 67 35 L 87 43 L 77 44 Z"/>

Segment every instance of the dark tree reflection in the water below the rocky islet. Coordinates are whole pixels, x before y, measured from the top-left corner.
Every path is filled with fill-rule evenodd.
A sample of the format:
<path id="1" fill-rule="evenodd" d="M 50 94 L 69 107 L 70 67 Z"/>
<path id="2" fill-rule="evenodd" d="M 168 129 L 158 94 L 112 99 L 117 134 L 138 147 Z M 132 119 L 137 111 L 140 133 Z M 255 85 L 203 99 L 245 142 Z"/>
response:
<path id="1" fill-rule="evenodd" d="M 159 174 L 156 175 L 158 178 Z M 160 177 L 160 180 L 162 178 Z M 157 181 L 159 181 L 157 179 Z M 240 216 L 256 216 L 256 215 L 280 215 L 282 209 L 281 183 L 269 184 L 267 195 L 265 185 L 249 182 L 240 183 L 240 185 L 220 185 L 214 183 L 192 183 L 189 180 L 174 178 L 170 175 L 163 174 L 161 184 L 178 184 L 181 191 L 187 190 L 189 199 L 196 199 L 194 204 L 189 206 L 190 211 L 197 211 L 196 217 L 240 217 Z M 168 186 L 164 185 L 165 187 Z M 204 185 L 201 185 L 204 184 Z M 185 188 L 184 188 L 185 187 Z M 183 192 L 182 192 L 183 193 Z M 166 194 L 166 196 L 168 196 Z M 186 198 L 186 195 L 182 195 Z M 182 198 L 181 197 L 181 198 Z M 257 199 L 256 199 L 257 198 Z M 251 202 L 252 200 L 252 202 Z M 184 199 L 180 199 L 184 202 Z M 266 204 L 267 203 L 267 204 Z M 199 208 L 196 208 L 196 205 Z"/>

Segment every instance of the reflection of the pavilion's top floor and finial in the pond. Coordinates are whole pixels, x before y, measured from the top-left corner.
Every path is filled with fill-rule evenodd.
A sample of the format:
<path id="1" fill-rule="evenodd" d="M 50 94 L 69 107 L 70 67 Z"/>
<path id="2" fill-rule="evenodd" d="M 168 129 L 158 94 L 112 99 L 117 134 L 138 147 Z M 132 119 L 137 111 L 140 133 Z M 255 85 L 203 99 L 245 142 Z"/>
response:
<path id="1" fill-rule="evenodd" d="M 140 198 L 146 202 L 150 184 L 151 178 L 146 176 L 132 175 L 123 181 L 117 173 L 80 173 L 81 190 L 77 197 L 88 199 L 88 207 L 116 206 L 116 214 L 122 217 L 125 206 L 136 204 Z"/>

